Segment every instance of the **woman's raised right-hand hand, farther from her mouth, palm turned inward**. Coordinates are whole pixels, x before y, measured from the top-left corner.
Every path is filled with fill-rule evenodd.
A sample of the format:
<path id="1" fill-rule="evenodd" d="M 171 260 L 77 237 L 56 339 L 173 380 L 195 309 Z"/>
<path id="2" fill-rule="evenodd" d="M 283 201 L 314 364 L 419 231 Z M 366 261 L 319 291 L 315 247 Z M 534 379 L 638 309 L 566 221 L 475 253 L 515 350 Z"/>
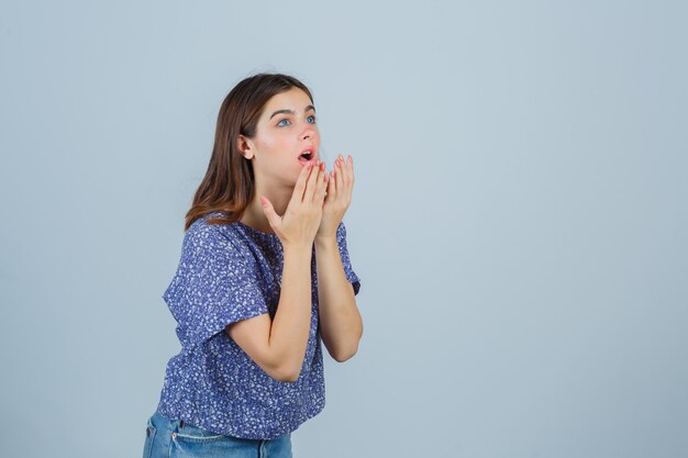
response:
<path id="1" fill-rule="evenodd" d="M 340 155 L 334 160 L 334 170 L 328 176 L 328 194 L 322 205 L 322 220 L 315 238 L 336 237 L 336 230 L 352 201 L 354 189 L 354 163 Z"/>

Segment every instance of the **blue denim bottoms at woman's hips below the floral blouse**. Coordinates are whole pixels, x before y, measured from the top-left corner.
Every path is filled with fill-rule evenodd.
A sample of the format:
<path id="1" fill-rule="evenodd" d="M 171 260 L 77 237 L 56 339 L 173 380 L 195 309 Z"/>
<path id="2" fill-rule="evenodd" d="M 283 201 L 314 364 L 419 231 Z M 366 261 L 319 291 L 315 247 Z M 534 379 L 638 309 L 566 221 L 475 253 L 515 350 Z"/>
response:
<path id="1" fill-rule="evenodd" d="M 182 420 L 169 420 L 155 412 L 148 418 L 145 434 L 143 458 L 292 458 L 291 433 L 275 439 L 244 439 L 212 433 Z"/>

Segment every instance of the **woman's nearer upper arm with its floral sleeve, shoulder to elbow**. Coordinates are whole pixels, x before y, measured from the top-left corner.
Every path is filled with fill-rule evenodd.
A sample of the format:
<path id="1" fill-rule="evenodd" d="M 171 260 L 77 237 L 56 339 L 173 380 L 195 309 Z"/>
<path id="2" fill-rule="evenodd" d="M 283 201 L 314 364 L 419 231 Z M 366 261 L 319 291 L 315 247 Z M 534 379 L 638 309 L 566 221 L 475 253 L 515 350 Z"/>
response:
<path id="1" fill-rule="evenodd" d="M 231 236 L 219 226 L 193 223 L 163 298 L 178 322 L 184 347 L 202 345 L 226 332 L 266 373 L 279 380 L 280 365 L 268 345 L 271 322 L 260 266 Z"/>

